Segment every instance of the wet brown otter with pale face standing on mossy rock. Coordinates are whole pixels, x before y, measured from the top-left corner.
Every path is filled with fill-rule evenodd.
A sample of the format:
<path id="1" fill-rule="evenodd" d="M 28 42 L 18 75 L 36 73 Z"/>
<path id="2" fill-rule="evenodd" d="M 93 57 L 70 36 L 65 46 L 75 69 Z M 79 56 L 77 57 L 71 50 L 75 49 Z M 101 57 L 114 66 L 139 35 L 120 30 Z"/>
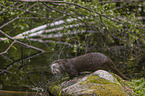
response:
<path id="1" fill-rule="evenodd" d="M 113 61 L 106 55 L 96 52 L 87 53 L 71 59 L 59 59 L 51 64 L 52 74 L 61 74 L 63 72 L 68 73 L 70 78 L 74 78 L 79 73 L 84 71 L 96 71 L 96 70 L 113 71 L 121 76 L 123 79 L 129 80 L 124 76 L 115 66 Z"/>

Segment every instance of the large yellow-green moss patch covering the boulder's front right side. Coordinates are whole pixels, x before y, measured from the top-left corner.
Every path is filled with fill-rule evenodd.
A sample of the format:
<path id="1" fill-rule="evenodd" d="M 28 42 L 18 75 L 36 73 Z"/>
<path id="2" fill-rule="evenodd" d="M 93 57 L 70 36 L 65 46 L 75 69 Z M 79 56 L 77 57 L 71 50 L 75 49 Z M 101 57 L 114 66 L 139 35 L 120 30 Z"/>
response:
<path id="1" fill-rule="evenodd" d="M 92 94 L 93 91 L 97 96 L 127 96 L 118 83 L 112 83 L 109 80 L 94 75 L 88 76 L 86 81 L 79 84 L 89 86 L 84 91 L 85 94 Z"/>

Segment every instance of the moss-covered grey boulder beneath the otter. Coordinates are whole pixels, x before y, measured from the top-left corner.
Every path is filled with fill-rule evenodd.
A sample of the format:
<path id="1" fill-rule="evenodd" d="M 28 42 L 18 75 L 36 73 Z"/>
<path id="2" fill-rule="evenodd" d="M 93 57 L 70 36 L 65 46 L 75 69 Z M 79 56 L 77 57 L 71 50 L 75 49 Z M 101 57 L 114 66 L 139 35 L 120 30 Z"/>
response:
<path id="1" fill-rule="evenodd" d="M 57 96 L 130 96 L 133 92 L 119 76 L 98 70 L 71 80 L 63 77 L 50 84 L 49 91 Z"/>

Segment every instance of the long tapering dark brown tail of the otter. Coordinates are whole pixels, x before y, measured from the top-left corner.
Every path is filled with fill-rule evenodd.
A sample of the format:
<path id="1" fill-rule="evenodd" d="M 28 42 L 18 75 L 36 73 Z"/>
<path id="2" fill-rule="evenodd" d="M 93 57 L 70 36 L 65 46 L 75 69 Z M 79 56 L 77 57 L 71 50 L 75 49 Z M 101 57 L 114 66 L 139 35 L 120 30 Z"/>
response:
<path id="1" fill-rule="evenodd" d="M 127 78 L 125 75 L 123 75 L 116 67 L 116 65 L 113 63 L 113 61 L 111 60 L 111 63 L 109 63 L 111 65 L 109 65 L 110 69 L 115 72 L 116 74 L 118 74 L 119 76 L 121 76 L 123 79 L 125 80 L 130 80 L 129 78 Z"/>

